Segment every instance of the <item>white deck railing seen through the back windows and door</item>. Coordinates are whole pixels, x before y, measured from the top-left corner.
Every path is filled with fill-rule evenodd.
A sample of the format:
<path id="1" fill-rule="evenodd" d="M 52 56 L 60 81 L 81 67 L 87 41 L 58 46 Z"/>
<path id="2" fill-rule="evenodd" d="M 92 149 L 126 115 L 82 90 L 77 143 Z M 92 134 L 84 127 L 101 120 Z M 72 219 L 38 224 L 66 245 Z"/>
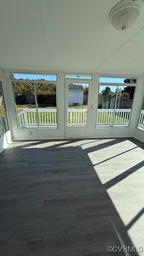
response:
<path id="1" fill-rule="evenodd" d="M 112 125 L 113 115 L 115 126 L 128 126 L 130 121 L 131 109 L 98 109 L 97 126 Z M 18 123 L 20 128 L 33 128 L 38 125 L 40 127 L 57 127 L 57 111 L 56 108 L 24 108 L 18 113 Z M 86 108 L 68 108 L 68 126 L 86 126 L 87 109 Z M 142 124 L 140 124 L 142 125 Z"/>

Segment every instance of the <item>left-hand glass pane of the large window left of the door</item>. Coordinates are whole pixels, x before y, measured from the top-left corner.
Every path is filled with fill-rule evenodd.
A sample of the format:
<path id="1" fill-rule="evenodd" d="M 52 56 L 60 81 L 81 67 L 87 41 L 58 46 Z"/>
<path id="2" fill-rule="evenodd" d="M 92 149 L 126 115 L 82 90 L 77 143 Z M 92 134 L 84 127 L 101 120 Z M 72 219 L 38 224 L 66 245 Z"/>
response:
<path id="1" fill-rule="evenodd" d="M 20 129 L 38 128 L 34 84 L 13 83 Z"/>

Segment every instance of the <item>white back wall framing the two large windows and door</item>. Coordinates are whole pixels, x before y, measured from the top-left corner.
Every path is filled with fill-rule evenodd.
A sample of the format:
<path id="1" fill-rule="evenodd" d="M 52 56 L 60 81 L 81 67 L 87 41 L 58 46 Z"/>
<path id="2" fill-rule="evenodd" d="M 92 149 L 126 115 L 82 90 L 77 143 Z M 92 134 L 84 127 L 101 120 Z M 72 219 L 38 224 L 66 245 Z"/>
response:
<path id="1" fill-rule="evenodd" d="M 64 73 L 58 73 L 57 82 L 57 111 L 58 111 L 58 129 L 44 129 L 44 130 L 18 130 L 17 117 L 15 110 L 15 102 L 13 96 L 12 83 L 10 81 L 10 71 L 2 70 L 2 82 L 5 88 L 5 101 L 8 109 L 8 116 L 10 120 L 10 127 L 12 136 L 15 140 L 31 140 L 31 139 L 48 139 L 48 138 L 64 138 L 65 137 L 65 79 Z M 112 75 L 111 75 L 112 76 Z M 124 76 L 123 76 L 124 77 Z M 142 102 L 142 96 L 144 92 L 144 76 L 138 77 L 138 84 L 136 85 L 136 93 L 134 96 L 134 102 L 132 106 L 132 114 L 130 119 L 130 125 L 126 128 L 96 128 L 96 113 L 98 107 L 98 92 L 99 92 L 99 74 L 93 74 L 92 86 L 89 90 L 89 105 L 88 105 L 88 129 L 86 136 L 95 138 L 115 138 L 115 137 L 128 137 L 136 136 L 140 140 L 143 137 L 143 131 L 137 131 L 136 120 L 140 111 L 140 103 Z M 70 128 L 71 135 L 74 130 L 74 134 L 83 134 L 81 127 Z M 113 130 L 113 133 L 111 131 Z M 28 135 L 28 131 L 31 131 L 31 135 Z M 75 135 L 74 135 L 75 136 Z"/>

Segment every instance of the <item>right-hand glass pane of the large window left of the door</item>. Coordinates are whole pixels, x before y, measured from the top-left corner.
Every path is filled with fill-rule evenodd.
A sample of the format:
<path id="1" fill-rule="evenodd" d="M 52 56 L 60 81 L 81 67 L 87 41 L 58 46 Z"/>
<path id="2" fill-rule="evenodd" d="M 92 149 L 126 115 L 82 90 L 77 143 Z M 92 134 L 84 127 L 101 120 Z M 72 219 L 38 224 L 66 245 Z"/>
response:
<path id="1" fill-rule="evenodd" d="M 56 84 L 36 84 L 39 128 L 57 128 Z"/>

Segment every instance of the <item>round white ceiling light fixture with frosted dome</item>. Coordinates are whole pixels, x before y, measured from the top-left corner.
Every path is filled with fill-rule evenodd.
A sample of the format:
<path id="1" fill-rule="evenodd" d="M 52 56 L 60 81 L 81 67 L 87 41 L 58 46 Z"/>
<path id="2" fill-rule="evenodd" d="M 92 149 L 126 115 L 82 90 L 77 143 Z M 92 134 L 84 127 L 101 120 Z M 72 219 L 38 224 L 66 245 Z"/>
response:
<path id="1" fill-rule="evenodd" d="M 112 8 L 108 17 L 114 28 L 126 30 L 134 24 L 143 10 L 143 0 L 122 0 Z"/>

